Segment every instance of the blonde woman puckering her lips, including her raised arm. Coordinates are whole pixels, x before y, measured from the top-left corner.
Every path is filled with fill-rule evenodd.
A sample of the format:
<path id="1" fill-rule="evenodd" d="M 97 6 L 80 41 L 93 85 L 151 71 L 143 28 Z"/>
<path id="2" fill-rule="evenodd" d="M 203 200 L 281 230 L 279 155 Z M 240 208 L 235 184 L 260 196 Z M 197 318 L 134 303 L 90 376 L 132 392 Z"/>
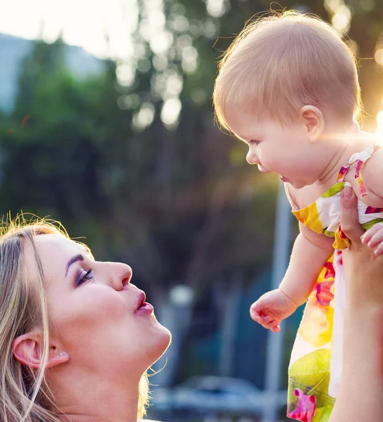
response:
<path id="1" fill-rule="evenodd" d="M 341 224 L 353 245 L 344 258 L 346 352 L 331 422 L 379 421 L 383 414 L 383 258 L 360 244 L 354 199 L 343 198 Z M 366 256 L 370 265 L 360 271 Z M 168 347 L 170 333 L 131 277 L 127 265 L 96 262 L 86 246 L 49 224 L 6 231 L 0 238 L 1 422 L 142 417 L 146 369 Z"/>

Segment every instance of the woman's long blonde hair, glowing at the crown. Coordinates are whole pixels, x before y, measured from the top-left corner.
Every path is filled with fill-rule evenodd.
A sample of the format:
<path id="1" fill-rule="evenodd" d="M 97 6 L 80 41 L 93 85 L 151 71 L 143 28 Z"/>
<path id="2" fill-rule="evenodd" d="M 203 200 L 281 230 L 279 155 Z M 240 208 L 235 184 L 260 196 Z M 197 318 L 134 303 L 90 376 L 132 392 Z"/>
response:
<path id="1" fill-rule="evenodd" d="M 20 216 L 8 219 L 0 229 L 0 421 L 61 422 L 49 393 L 44 374 L 49 354 L 49 319 L 46 307 L 44 274 L 34 237 L 59 234 L 69 238 L 57 222 L 34 218 L 27 222 Z M 34 252 L 38 269 L 37 281 L 28 279 L 24 267 L 24 251 L 28 245 Z M 13 356 L 13 340 L 38 328 L 43 335 L 42 366 L 37 372 L 18 362 Z M 137 418 L 145 414 L 149 396 L 146 373 L 140 384 Z"/>

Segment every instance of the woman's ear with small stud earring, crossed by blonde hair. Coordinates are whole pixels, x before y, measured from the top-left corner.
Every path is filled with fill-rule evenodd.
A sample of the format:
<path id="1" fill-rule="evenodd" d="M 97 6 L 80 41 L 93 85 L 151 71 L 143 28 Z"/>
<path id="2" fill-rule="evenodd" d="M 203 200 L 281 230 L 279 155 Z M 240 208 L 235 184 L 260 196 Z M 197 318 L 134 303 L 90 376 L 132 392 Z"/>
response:
<path id="1" fill-rule="evenodd" d="M 12 344 L 12 352 L 18 362 L 33 369 L 39 369 L 42 366 L 43 357 L 43 338 L 37 331 L 19 335 Z M 58 364 L 63 364 L 69 359 L 68 353 L 61 350 L 61 346 L 52 343 L 49 345 L 48 362 L 46 368 L 51 368 Z"/>

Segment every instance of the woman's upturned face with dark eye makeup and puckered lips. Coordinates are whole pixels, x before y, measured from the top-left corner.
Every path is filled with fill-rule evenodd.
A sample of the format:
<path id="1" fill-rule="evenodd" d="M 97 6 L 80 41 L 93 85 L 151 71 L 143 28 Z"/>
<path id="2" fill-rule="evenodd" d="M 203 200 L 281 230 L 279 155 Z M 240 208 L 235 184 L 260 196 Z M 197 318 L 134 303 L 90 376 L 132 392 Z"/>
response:
<path id="1" fill-rule="evenodd" d="M 130 369 L 141 376 L 166 350 L 170 333 L 151 305 L 140 306 L 144 293 L 130 283 L 132 269 L 95 261 L 83 245 L 64 236 L 39 235 L 35 242 L 51 339 L 69 355 L 68 363 L 85 371 Z M 37 271 L 32 248 L 25 252 L 29 271 Z"/>

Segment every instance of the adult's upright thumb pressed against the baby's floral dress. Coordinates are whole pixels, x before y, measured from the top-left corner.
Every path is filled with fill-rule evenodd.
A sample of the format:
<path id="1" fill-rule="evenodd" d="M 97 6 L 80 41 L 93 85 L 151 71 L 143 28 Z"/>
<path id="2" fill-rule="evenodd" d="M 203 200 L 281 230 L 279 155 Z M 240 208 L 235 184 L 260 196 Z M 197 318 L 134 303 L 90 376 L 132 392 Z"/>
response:
<path id="1" fill-rule="evenodd" d="M 358 198 L 348 182 L 341 192 L 341 230 L 354 243 L 360 242 L 364 233 L 358 221 Z"/>

